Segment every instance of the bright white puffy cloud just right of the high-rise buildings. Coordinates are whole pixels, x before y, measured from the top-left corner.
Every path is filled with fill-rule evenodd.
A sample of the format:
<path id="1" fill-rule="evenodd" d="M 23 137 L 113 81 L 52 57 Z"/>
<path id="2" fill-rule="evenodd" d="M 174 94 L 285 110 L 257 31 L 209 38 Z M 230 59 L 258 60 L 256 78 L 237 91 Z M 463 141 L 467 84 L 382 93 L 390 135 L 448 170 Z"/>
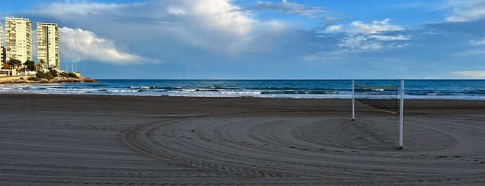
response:
<path id="1" fill-rule="evenodd" d="M 59 29 L 61 54 L 67 60 L 98 60 L 114 64 L 138 63 L 141 57 L 119 51 L 111 40 L 96 36 L 91 31 L 80 28 Z"/>

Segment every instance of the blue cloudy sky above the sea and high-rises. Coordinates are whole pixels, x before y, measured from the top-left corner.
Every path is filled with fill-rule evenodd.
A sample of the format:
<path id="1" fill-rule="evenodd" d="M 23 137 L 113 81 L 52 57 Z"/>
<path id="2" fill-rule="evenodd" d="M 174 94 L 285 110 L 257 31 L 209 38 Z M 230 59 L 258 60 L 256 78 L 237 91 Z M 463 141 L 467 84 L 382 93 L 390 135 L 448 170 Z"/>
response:
<path id="1" fill-rule="evenodd" d="M 60 69 L 90 78 L 485 78 L 485 0 L 19 0 L 0 16 L 34 37 L 57 23 Z"/>

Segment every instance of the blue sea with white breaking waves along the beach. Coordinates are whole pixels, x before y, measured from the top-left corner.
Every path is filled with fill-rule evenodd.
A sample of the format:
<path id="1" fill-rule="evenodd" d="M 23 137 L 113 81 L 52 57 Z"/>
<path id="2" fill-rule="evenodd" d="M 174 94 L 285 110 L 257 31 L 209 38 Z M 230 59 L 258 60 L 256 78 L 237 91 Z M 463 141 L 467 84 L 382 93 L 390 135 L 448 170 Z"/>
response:
<path id="1" fill-rule="evenodd" d="M 485 80 L 404 82 L 405 99 L 485 100 Z M 400 80 L 355 80 L 355 83 L 373 87 L 398 86 L 398 91 L 401 90 Z M 100 79 L 96 83 L 3 84 L 0 85 L 2 93 L 350 99 L 352 80 Z"/>

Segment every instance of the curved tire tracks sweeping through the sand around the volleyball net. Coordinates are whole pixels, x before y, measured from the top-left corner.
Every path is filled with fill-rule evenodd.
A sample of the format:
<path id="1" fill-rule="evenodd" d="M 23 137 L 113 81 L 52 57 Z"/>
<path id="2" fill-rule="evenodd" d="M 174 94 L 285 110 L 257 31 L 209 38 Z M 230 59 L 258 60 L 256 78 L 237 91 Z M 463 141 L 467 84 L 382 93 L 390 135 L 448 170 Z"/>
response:
<path id="1" fill-rule="evenodd" d="M 433 180 L 446 182 L 454 177 L 459 177 L 458 181 L 477 180 L 482 179 L 480 175 L 484 175 L 484 167 L 475 161 L 470 162 L 470 157 L 438 155 L 453 153 L 455 146 L 433 151 L 373 151 L 354 149 L 352 146 L 327 146 L 305 140 L 305 137 L 298 136 L 301 133 L 295 131 L 314 124 L 316 120 L 330 122 L 334 119 L 247 118 L 241 115 L 212 115 L 152 122 L 130 128 L 124 133 L 123 139 L 134 149 L 154 157 L 222 171 L 233 176 L 284 177 L 294 180 L 323 177 L 338 180 L 342 176 L 350 180 L 367 178 L 356 180 L 358 183 L 400 178 L 412 183 Z M 414 122 L 407 127 L 419 128 L 431 121 L 420 119 Z M 436 119 L 432 122 L 439 123 Z M 262 130 L 261 133 L 255 134 L 255 128 Z M 427 130 L 443 130 L 441 132 L 452 136 L 458 133 L 470 135 L 466 130 L 450 132 L 456 130 L 452 125 L 430 125 Z M 471 137 L 473 140 L 481 138 Z M 471 152 L 470 149 L 459 150 Z M 484 155 L 482 149 L 471 153 Z M 430 164 L 437 164 L 443 169 L 436 172 L 436 167 L 429 167 Z M 475 168 L 468 169 L 468 176 L 454 173 L 470 166 Z M 420 167 L 420 171 L 416 167 Z"/>

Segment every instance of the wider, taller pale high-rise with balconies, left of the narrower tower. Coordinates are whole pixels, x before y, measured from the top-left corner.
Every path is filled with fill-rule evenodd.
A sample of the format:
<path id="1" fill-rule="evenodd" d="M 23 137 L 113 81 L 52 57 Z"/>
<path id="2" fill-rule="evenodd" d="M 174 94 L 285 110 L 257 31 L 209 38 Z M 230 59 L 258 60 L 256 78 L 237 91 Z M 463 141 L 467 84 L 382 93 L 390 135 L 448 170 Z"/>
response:
<path id="1" fill-rule="evenodd" d="M 5 17 L 6 62 L 32 60 L 32 25 L 25 18 Z M 5 67 L 5 65 L 4 65 Z"/>

